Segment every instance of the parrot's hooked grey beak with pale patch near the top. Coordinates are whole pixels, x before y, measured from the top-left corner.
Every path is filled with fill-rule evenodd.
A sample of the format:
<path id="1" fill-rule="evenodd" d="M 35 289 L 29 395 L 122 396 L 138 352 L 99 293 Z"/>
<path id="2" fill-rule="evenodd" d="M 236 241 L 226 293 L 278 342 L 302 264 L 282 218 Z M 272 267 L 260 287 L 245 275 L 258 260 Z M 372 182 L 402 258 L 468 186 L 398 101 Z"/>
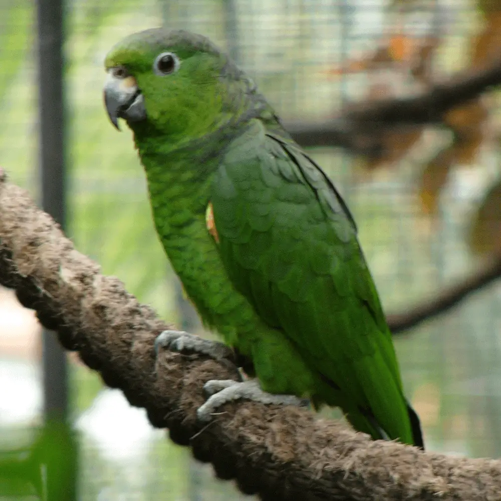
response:
<path id="1" fill-rule="evenodd" d="M 114 68 L 108 70 L 108 78 L 104 85 L 104 104 L 111 123 L 120 130 L 118 119 L 127 122 L 140 122 L 146 119 L 144 97 L 132 76 L 118 77 Z"/>

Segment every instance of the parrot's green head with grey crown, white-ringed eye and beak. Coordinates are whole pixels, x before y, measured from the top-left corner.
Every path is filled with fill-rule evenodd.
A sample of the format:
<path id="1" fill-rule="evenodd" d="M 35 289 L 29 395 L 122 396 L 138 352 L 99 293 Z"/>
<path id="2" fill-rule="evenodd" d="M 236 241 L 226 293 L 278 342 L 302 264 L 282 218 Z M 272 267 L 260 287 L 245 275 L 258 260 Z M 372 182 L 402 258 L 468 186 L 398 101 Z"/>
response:
<path id="1" fill-rule="evenodd" d="M 108 115 L 117 129 L 122 118 L 134 132 L 206 134 L 234 115 L 235 106 L 241 108 L 228 92 L 234 82 L 250 87 L 208 39 L 186 31 L 156 28 L 131 35 L 111 49 L 105 66 Z"/>

